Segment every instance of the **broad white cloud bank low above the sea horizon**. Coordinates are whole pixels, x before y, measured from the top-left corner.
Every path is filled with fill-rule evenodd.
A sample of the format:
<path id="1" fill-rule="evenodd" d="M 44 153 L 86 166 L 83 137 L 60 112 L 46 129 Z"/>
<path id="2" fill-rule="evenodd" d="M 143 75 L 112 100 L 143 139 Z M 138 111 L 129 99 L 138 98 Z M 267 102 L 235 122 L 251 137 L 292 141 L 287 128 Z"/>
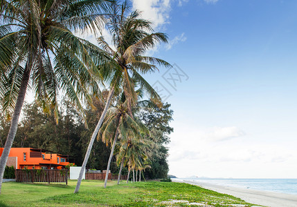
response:
<path id="1" fill-rule="evenodd" d="M 170 135 L 169 173 L 178 177 L 296 177 L 296 143 L 276 144 L 260 138 L 255 142 L 255 136 L 249 128 L 238 126 L 179 123 Z"/>

